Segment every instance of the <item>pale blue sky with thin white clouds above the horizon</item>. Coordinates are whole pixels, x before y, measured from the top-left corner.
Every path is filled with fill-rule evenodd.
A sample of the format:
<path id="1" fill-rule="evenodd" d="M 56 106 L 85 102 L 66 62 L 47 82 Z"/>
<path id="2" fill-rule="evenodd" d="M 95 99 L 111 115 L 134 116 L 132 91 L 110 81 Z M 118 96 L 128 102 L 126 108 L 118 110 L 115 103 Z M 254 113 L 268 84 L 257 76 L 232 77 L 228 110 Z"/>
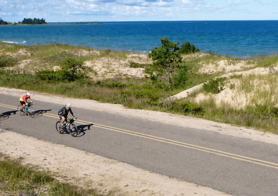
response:
<path id="1" fill-rule="evenodd" d="M 0 0 L 7 22 L 278 20 L 278 0 Z"/>

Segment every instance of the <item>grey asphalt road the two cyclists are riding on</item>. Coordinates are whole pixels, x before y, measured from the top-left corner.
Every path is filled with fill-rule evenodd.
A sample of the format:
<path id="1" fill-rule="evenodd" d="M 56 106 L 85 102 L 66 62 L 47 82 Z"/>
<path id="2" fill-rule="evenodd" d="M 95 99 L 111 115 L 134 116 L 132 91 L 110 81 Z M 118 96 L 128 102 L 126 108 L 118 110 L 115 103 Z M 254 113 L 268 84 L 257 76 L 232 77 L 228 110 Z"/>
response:
<path id="1" fill-rule="evenodd" d="M 0 129 L 85 150 L 236 196 L 278 196 L 278 147 L 213 131 L 72 106 L 80 137 L 59 134 L 63 105 L 34 99 L 34 118 L 19 98 L 0 94 Z M 71 116 L 69 114 L 69 116 Z"/>

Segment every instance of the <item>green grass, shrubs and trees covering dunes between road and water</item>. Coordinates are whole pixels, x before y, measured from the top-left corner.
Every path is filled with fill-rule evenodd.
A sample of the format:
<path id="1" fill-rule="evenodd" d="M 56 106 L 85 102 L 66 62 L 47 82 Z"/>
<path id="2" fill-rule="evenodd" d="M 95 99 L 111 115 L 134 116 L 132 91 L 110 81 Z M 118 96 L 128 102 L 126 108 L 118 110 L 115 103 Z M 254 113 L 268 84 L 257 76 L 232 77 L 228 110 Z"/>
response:
<path id="1" fill-rule="evenodd" d="M 219 77 L 224 73 L 221 70 L 211 74 L 199 72 L 204 65 L 217 65 L 222 60 L 226 61 L 227 65 L 245 61 L 246 67 L 243 70 L 269 66 L 271 69 L 271 65 L 277 65 L 277 56 L 239 60 L 210 53 L 201 56 L 197 52 L 195 55 L 198 50 L 185 55 L 179 51 L 179 43 L 172 43 L 167 38 L 161 39 L 161 43 L 162 46 L 153 49 L 149 55 L 153 59 L 152 64 L 135 63 L 135 57 L 127 60 L 130 55 L 128 52 L 98 50 L 98 53 L 91 55 L 80 55 L 78 53 L 80 50 L 86 52 L 93 50 L 61 44 L 7 47 L 7 44 L 0 43 L 2 53 L 15 53 L 24 48 L 31 54 L 16 58 L 0 55 L 2 67 L 13 67 L 16 70 L 18 61 L 32 59 L 32 62 L 24 67 L 27 69 L 25 75 L 15 74 L 16 72 L 11 74 L 2 70 L 0 86 L 123 104 L 128 108 L 200 117 L 278 133 L 277 73 L 267 76 L 232 75 L 222 78 Z M 188 46 L 188 43 L 186 45 Z M 91 77 L 95 77 L 96 71 L 94 67 L 85 66 L 84 62 L 102 62 L 104 59 L 128 61 L 126 66 L 130 68 L 144 68 L 146 77 L 122 76 L 92 80 Z M 53 70 L 55 66 L 59 67 L 56 71 Z M 108 61 L 105 66 L 110 66 Z M 203 88 L 190 93 L 187 98 L 181 100 L 170 98 L 202 83 Z M 262 88 L 262 85 L 266 87 Z M 241 98 L 237 100 L 239 107 L 227 102 L 215 102 L 214 96 L 219 95 L 227 87 L 235 94 L 243 96 L 244 100 Z M 195 98 L 201 94 L 211 98 L 196 102 Z M 240 107 L 241 101 L 246 102 L 246 105 Z"/>

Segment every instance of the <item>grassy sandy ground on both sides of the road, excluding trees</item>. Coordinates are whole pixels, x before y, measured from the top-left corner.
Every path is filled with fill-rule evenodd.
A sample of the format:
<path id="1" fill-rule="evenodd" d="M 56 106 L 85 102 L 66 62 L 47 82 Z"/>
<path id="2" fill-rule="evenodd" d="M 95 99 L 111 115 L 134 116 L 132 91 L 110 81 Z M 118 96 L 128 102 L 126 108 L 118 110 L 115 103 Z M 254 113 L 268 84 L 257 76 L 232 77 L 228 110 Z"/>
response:
<path id="1" fill-rule="evenodd" d="M 87 77 L 72 82 L 56 77 L 57 72 L 53 70 L 59 70 L 67 58 L 78 59 L 90 66 Z M 183 64 L 188 67 L 189 74 L 185 84 L 175 88 L 153 83 L 146 71 L 150 64 L 151 60 L 144 55 L 129 52 L 60 44 L 18 46 L 0 43 L 0 86 L 123 104 L 127 108 L 188 115 L 278 133 L 277 55 L 250 59 L 213 53 L 185 55 Z M 262 69 L 270 71 L 265 75 L 254 71 L 262 72 Z M 129 74 L 131 72 L 126 70 L 136 72 Z M 41 71 L 46 72 L 43 75 Z M 202 83 L 202 88 L 190 92 L 186 98 L 170 98 Z M 229 101 L 225 99 L 228 95 Z M 96 196 L 94 190 L 59 183 L 50 174 L 22 167 L 20 160 L 11 160 L 4 155 L 0 155 L 0 159 L 2 192 L 10 195 Z"/>

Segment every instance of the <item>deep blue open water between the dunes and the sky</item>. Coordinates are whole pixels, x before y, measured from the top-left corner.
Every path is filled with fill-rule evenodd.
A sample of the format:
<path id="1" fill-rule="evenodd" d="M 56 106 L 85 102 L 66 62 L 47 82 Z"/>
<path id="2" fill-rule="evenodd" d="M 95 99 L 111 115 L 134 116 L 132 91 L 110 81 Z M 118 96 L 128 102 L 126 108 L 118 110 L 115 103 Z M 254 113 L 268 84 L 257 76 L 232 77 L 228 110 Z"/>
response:
<path id="1" fill-rule="evenodd" d="M 51 23 L 50 23 L 51 24 Z M 19 45 L 52 43 L 149 53 L 160 38 L 203 52 L 250 58 L 278 54 L 278 20 L 146 21 L 103 24 L 0 26 L 0 41 Z"/>

